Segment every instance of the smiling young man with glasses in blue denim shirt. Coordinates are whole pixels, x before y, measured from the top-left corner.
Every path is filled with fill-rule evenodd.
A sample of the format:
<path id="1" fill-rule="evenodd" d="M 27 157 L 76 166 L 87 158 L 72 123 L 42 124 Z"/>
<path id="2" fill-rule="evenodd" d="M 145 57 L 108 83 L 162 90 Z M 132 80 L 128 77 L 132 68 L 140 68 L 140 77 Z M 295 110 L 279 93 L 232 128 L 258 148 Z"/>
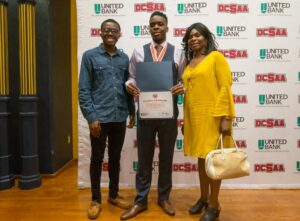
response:
<path id="1" fill-rule="evenodd" d="M 120 25 L 113 19 L 101 24 L 102 44 L 83 54 L 79 77 L 79 105 L 88 121 L 91 139 L 90 178 L 92 202 L 88 217 L 95 219 L 101 212 L 100 179 L 108 140 L 108 202 L 126 209 L 129 203 L 120 195 L 120 157 L 126 131 L 126 119 L 134 125 L 134 102 L 127 94 L 128 56 L 116 48 Z"/>

